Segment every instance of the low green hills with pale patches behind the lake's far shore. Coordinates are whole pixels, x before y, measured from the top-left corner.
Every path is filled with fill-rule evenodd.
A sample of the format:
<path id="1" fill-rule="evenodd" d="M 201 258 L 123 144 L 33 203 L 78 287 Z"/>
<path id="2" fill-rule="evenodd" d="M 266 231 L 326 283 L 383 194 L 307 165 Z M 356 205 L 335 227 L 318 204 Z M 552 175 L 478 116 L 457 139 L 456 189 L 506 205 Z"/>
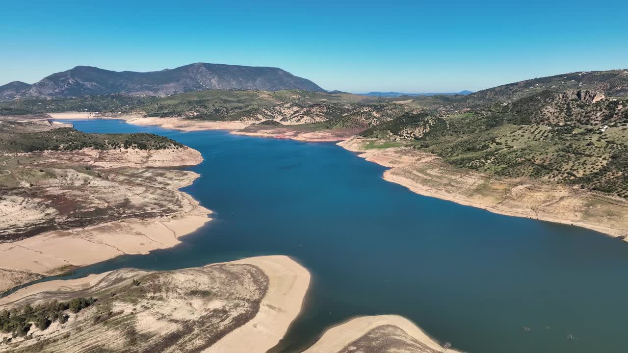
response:
<path id="1" fill-rule="evenodd" d="M 413 106 L 354 94 L 304 90 L 190 92 L 153 100 L 131 109 L 148 117 L 187 117 L 203 121 L 277 121 L 280 124 L 320 124 L 326 128 L 367 128 Z"/>

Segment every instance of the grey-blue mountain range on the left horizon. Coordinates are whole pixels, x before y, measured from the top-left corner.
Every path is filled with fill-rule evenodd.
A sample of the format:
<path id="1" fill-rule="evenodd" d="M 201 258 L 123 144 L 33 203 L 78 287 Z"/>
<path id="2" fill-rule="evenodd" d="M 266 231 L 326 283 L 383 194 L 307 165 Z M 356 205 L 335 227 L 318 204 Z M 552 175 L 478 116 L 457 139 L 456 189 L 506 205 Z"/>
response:
<path id="1" fill-rule="evenodd" d="M 325 92 L 314 82 L 276 67 L 193 63 L 171 70 L 116 72 L 77 66 L 53 73 L 32 85 L 14 81 L 0 86 L 0 101 L 95 94 L 170 95 L 210 89 Z"/>

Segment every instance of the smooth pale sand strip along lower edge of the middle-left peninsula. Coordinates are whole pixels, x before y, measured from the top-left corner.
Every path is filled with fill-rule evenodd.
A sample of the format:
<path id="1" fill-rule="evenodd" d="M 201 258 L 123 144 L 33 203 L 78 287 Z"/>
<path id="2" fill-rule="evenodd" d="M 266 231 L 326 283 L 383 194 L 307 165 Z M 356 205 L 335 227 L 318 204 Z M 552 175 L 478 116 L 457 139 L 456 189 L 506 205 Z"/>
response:
<path id="1" fill-rule="evenodd" d="M 0 244 L 0 292 L 75 266 L 87 266 L 123 254 L 147 254 L 179 244 L 179 238 L 211 220 L 212 212 L 178 188 L 197 173 L 171 185 L 180 198 L 180 212 L 151 219 L 128 219 L 91 227 L 50 231 Z"/>

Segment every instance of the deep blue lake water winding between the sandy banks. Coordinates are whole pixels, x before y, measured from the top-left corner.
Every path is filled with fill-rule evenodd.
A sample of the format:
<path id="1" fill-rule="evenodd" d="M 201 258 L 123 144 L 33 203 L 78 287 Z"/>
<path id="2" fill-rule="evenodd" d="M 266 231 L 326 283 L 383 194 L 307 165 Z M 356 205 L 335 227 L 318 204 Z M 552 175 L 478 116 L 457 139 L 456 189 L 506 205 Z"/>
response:
<path id="1" fill-rule="evenodd" d="M 312 282 L 276 352 L 298 352 L 355 315 L 384 313 L 471 353 L 627 351 L 624 242 L 416 195 L 383 180 L 386 168 L 332 143 L 72 122 L 86 132 L 161 134 L 198 149 L 205 161 L 187 169 L 201 177 L 183 191 L 216 214 L 180 246 L 65 278 L 285 254 Z"/>

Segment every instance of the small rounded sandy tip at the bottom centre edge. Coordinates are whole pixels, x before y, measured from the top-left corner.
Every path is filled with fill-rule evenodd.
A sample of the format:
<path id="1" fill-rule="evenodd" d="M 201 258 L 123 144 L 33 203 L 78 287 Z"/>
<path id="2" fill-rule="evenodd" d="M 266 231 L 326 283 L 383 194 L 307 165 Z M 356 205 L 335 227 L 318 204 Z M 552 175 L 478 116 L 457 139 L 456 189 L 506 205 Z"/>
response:
<path id="1" fill-rule="evenodd" d="M 458 353 L 438 344 L 407 318 L 377 315 L 353 318 L 327 330 L 304 353 Z"/>

